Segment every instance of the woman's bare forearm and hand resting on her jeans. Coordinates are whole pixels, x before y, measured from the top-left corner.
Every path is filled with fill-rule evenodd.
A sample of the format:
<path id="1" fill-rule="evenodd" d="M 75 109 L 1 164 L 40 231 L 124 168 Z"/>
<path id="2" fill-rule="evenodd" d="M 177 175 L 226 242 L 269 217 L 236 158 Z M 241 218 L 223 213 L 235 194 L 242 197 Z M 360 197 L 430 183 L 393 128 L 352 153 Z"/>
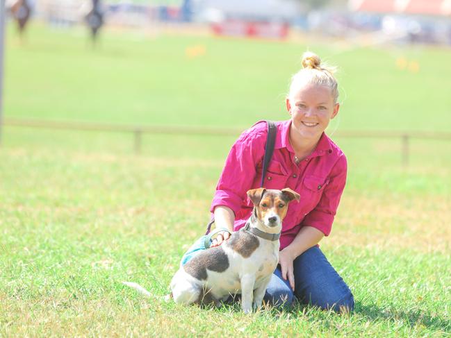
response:
<path id="1" fill-rule="evenodd" d="M 293 273 L 293 260 L 307 249 L 315 246 L 324 237 L 317 228 L 313 226 L 303 226 L 297 233 L 293 242 L 284 250 L 279 252 L 279 264 L 284 280 L 290 282 L 290 287 L 295 291 L 295 276 Z"/>

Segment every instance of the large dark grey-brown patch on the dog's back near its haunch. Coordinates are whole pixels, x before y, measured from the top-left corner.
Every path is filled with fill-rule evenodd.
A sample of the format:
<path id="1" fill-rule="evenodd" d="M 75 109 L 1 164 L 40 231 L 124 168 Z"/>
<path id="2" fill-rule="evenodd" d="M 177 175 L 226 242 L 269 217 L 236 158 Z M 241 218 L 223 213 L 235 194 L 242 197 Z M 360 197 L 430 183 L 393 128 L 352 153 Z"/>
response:
<path id="1" fill-rule="evenodd" d="M 226 271 L 229 268 L 229 257 L 221 246 L 215 246 L 209 248 L 201 253 L 195 255 L 183 265 L 183 269 L 186 273 L 189 273 L 192 277 L 198 280 L 206 280 L 207 269 L 215 272 Z"/>

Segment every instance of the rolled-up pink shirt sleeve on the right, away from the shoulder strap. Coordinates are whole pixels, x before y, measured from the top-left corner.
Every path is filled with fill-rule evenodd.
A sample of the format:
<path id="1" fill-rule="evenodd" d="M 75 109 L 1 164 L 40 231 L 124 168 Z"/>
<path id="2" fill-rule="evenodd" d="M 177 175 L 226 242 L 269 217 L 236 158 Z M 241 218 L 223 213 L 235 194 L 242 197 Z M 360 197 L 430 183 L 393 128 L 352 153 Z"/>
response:
<path id="1" fill-rule="evenodd" d="M 336 164 L 331 170 L 329 176 L 329 183 L 324 188 L 320 201 L 316 207 L 306 214 L 303 226 L 312 226 L 317 228 L 325 236 L 329 236 L 334 223 L 334 218 L 340 203 L 341 194 L 345 189 L 347 175 L 347 161 L 345 155 L 341 155 L 338 158 Z"/>

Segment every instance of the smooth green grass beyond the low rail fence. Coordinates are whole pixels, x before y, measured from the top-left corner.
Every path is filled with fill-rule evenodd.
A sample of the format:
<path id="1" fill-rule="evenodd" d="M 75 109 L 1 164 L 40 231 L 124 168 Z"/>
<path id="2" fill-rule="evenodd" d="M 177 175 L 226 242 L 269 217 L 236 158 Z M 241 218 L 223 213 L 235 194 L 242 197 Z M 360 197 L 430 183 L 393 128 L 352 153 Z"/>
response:
<path id="1" fill-rule="evenodd" d="M 309 48 L 339 66 L 341 130 L 451 130 L 449 49 L 343 49 L 156 29 L 104 32 L 93 51 L 84 28 L 33 26 L 22 46 L 14 33 L 8 30 L 6 116 L 246 128 L 288 117 L 289 78 Z M 205 54 L 186 56 L 196 46 Z M 418 62 L 418 73 L 398 69 L 401 57 Z"/>

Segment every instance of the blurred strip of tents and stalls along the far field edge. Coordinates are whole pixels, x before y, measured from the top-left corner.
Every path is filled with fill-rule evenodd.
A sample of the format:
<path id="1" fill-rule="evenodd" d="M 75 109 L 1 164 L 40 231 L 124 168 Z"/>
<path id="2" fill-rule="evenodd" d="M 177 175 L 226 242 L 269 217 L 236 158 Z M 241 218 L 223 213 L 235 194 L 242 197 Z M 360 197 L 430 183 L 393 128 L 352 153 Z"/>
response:
<path id="1" fill-rule="evenodd" d="M 242 37 L 284 39 L 296 31 L 354 39 L 377 33 L 397 43 L 451 44 L 447 0 L 6 0 L 6 8 L 8 19 L 59 28 L 200 25 Z"/>

